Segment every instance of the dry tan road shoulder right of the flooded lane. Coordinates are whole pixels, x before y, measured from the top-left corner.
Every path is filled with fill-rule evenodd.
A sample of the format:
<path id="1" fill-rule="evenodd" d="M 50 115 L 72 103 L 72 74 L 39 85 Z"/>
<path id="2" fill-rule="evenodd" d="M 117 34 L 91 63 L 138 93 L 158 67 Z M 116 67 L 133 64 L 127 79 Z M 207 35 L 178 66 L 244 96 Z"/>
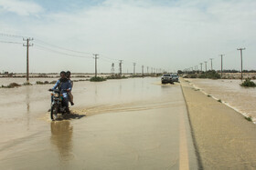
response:
<path id="1" fill-rule="evenodd" d="M 202 169 L 255 169 L 256 126 L 181 80 Z"/>

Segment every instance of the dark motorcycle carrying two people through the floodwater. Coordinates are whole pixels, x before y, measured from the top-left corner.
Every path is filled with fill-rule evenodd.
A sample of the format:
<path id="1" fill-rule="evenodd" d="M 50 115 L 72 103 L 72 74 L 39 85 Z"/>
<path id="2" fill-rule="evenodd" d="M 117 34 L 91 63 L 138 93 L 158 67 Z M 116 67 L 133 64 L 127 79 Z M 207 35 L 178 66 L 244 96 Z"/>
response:
<path id="1" fill-rule="evenodd" d="M 50 89 L 51 91 L 51 108 L 50 108 L 50 118 L 55 121 L 58 119 L 58 114 L 65 115 L 69 114 L 69 107 L 64 104 L 63 95 L 60 93 L 59 89 Z"/>

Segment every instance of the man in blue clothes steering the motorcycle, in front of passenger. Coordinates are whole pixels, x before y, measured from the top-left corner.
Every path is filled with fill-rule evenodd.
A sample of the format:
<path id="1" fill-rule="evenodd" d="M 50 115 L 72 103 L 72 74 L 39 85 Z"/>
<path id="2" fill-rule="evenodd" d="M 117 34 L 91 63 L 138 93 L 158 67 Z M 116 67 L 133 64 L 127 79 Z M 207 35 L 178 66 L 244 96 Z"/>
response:
<path id="1" fill-rule="evenodd" d="M 49 91 L 52 91 L 54 89 L 59 89 L 60 91 L 60 94 L 63 95 L 63 104 L 62 105 L 65 105 L 66 108 L 67 108 L 67 113 L 69 114 L 69 95 L 68 95 L 68 92 L 71 91 L 72 89 L 72 85 L 71 85 L 71 82 L 69 79 L 67 79 L 67 76 L 66 76 L 66 72 L 62 71 L 60 72 L 60 78 L 59 80 L 56 82 L 56 84 L 51 88 L 49 89 Z M 51 98 L 51 102 L 52 102 L 52 98 Z"/>

